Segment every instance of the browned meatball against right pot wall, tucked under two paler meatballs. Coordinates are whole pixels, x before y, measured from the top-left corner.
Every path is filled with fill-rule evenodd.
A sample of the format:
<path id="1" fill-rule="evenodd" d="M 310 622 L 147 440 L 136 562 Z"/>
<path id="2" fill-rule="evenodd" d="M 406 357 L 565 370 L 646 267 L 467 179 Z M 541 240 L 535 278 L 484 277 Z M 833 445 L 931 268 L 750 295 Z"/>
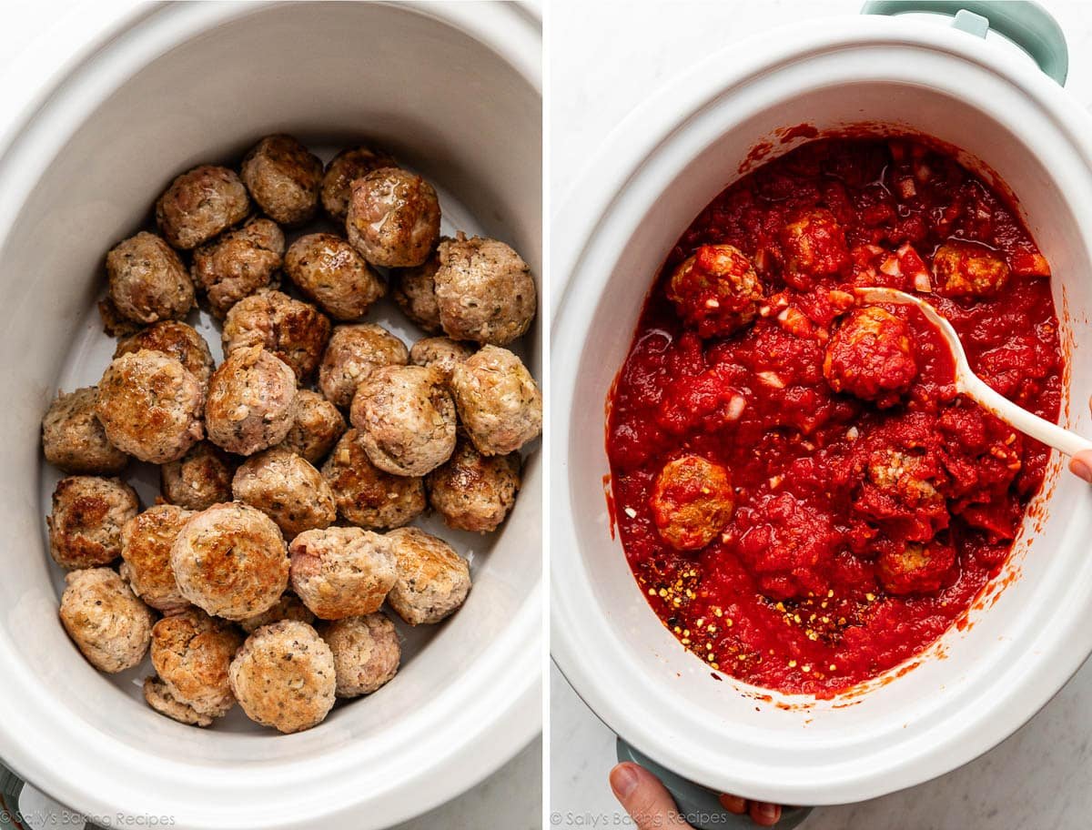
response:
<path id="1" fill-rule="evenodd" d="M 426 478 L 428 503 L 449 527 L 495 531 L 515 503 L 520 489 L 520 455 L 483 455 L 465 437 L 446 464 Z"/>

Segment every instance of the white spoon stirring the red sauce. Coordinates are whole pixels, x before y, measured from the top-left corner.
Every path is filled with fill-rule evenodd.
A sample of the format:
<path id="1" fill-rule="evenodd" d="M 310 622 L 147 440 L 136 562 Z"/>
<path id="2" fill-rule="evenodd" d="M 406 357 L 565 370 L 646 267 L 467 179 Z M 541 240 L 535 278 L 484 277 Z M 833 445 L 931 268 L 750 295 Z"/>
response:
<path id="1" fill-rule="evenodd" d="M 951 349 L 956 363 L 956 389 L 961 394 L 966 395 L 984 410 L 992 412 L 1009 426 L 1016 427 L 1024 435 L 1031 436 L 1066 455 L 1075 455 L 1081 450 L 1092 450 L 1092 441 L 1088 438 L 1081 438 L 1076 432 L 1070 432 L 1057 424 L 1052 424 L 1049 420 L 1017 406 L 1005 395 L 990 389 L 982 378 L 971 371 L 971 364 L 968 363 L 963 344 L 960 343 L 959 335 L 952 324 L 928 303 L 894 288 L 854 288 L 853 290 L 857 298 L 864 303 L 899 303 L 917 306 L 925 315 L 925 319 L 933 323 L 948 342 L 948 347 Z"/>

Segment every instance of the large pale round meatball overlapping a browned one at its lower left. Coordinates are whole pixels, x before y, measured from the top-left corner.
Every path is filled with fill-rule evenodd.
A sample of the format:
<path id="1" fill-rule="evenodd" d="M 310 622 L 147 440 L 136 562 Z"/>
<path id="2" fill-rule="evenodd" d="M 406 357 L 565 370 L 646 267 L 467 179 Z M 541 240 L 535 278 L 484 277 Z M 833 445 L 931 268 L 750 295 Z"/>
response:
<path id="1" fill-rule="evenodd" d="M 371 463 L 425 475 L 455 449 L 455 404 L 436 369 L 384 366 L 357 387 L 349 420 Z"/>

